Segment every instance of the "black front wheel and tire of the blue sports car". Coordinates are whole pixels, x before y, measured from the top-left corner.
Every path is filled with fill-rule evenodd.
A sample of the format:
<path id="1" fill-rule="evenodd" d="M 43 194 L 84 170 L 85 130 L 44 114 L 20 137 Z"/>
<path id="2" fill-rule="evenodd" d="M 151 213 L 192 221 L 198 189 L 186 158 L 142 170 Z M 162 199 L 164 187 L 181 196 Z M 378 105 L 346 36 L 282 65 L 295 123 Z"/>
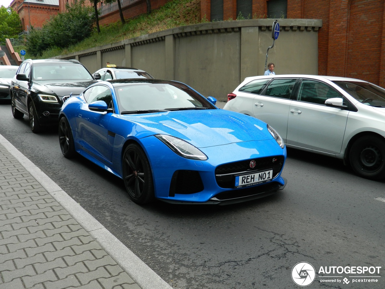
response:
<path id="1" fill-rule="evenodd" d="M 138 144 L 129 144 L 123 155 L 123 181 L 131 199 L 137 204 L 154 200 L 154 182 L 146 153 Z"/>

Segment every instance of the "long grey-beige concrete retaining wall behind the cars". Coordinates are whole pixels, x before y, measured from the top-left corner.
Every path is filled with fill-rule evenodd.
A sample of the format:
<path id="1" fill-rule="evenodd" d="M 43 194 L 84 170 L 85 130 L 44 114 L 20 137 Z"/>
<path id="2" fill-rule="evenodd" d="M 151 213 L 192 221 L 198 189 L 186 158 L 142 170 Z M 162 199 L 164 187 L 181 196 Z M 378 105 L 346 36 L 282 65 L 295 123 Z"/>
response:
<path id="1" fill-rule="evenodd" d="M 318 74 L 319 19 L 279 19 L 280 35 L 269 49 L 276 74 Z M 108 61 L 136 67 L 160 79 L 185 82 L 204 96 L 226 101 L 247 76 L 264 73 L 273 44 L 273 19 L 209 22 L 177 27 L 55 59 L 77 59 L 91 73 Z"/>

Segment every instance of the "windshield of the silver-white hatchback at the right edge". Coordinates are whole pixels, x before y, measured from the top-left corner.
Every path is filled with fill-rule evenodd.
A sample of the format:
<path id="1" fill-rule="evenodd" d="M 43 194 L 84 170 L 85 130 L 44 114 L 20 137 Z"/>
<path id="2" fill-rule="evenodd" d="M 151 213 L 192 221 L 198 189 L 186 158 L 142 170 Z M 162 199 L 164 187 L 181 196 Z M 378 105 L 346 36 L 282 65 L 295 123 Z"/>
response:
<path id="1" fill-rule="evenodd" d="M 385 107 L 385 89 L 368 82 L 333 81 L 357 101 L 376 107 Z"/>

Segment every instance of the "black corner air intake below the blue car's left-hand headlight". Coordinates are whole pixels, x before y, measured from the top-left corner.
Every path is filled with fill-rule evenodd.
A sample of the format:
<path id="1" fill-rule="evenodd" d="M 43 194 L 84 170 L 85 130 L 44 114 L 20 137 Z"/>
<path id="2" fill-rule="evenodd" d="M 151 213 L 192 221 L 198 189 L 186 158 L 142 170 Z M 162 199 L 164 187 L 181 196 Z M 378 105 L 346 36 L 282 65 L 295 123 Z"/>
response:
<path id="1" fill-rule="evenodd" d="M 198 171 L 177 170 L 171 178 L 169 197 L 175 197 L 175 194 L 198 193 L 203 189 L 203 182 Z"/>

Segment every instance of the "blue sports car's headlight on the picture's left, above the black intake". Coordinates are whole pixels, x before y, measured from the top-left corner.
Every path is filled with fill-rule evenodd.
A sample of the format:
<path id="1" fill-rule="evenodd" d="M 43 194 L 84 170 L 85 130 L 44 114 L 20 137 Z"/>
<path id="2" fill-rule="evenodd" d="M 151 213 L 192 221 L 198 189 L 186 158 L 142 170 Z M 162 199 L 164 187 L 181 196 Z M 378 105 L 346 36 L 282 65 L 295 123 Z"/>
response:
<path id="1" fill-rule="evenodd" d="M 180 155 L 184 158 L 189 158 L 191 160 L 207 160 L 207 156 L 204 153 L 183 139 L 166 134 L 156 134 L 155 136 L 164 144 L 166 144 L 166 146 L 168 146 L 177 155 Z"/>

